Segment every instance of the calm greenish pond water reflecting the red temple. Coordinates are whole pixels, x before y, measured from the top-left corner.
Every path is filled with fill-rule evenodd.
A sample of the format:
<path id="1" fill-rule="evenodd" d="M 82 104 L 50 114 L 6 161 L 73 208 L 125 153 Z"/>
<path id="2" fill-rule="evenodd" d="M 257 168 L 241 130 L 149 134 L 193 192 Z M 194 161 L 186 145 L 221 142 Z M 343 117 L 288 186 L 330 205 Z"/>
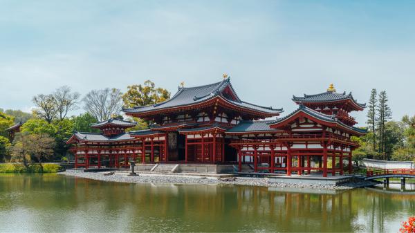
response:
<path id="1" fill-rule="evenodd" d="M 381 191 L 1 175 L 0 232 L 398 232 L 415 215 L 415 195 Z"/>

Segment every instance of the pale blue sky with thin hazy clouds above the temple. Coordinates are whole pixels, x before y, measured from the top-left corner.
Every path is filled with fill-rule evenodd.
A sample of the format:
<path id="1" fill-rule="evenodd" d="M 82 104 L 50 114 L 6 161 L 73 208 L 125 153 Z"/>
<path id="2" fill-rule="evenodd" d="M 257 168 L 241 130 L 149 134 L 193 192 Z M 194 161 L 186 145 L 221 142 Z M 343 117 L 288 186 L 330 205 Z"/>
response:
<path id="1" fill-rule="evenodd" d="M 68 85 L 85 95 L 152 80 L 230 75 L 239 97 L 295 110 L 330 83 L 367 102 L 385 90 L 394 120 L 415 115 L 415 1 L 0 0 L 0 108 Z M 72 114 L 79 114 L 81 110 Z M 365 126 L 367 110 L 351 113 Z"/>

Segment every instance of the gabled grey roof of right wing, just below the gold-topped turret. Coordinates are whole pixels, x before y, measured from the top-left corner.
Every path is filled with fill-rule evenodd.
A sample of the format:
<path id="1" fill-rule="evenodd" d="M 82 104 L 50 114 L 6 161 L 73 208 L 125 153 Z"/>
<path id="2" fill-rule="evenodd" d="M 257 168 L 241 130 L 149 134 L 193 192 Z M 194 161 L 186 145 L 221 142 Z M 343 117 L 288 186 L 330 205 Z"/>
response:
<path id="1" fill-rule="evenodd" d="M 310 115 L 313 118 L 316 118 L 317 120 L 320 120 L 322 122 L 327 122 L 329 124 L 337 124 L 338 126 L 348 129 L 349 131 L 355 131 L 359 134 L 364 134 L 367 133 L 367 130 L 365 129 L 360 129 L 357 127 L 351 127 L 347 124 L 344 124 L 343 122 L 341 122 L 340 120 L 338 120 L 337 118 L 335 118 L 335 115 L 327 115 L 324 113 L 320 113 L 319 111 L 315 111 L 313 109 L 310 109 L 306 106 L 304 106 L 303 104 L 299 104 L 299 107 L 297 110 L 293 111 L 292 113 L 284 116 L 284 118 L 278 118 L 277 120 L 273 120 L 271 122 L 268 122 L 267 124 L 269 124 L 270 126 L 275 125 L 275 124 L 279 124 L 281 122 L 284 122 L 286 120 L 290 120 L 294 115 L 296 115 L 297 113 L 306 113 L 306 115 Z"/>

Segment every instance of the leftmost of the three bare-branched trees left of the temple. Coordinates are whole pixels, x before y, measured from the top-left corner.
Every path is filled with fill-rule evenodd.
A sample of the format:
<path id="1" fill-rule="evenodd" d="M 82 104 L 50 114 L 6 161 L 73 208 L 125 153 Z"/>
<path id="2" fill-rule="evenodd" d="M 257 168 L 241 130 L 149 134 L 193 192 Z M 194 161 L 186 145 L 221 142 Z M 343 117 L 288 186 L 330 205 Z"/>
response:
<path id="1" fill-rule="evenodd" d="M 36 95 L 33 97 L 33 103 L 37 106 L 37 108 L 33 110 L 33 113 L 39 118 L 43 118 L 48 123 L 56 118 L 57 107 L 55 104 L 55 97 L 52 94 Z"/>

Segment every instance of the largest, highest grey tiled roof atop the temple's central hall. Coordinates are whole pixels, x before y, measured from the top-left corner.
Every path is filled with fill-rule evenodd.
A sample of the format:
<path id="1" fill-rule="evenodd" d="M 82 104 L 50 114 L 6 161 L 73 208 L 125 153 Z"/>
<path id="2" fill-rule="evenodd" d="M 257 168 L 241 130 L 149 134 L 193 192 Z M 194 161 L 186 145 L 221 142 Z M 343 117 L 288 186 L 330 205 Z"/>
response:
<path id="1" fill-rule="evenodd" d="M 224 94 L 224 91 L 227 94 Z M 169 100 L 160 102 L 158 104 L 151 104 L 147 106 L 136 106 L 133 109 L 122 109 L 125 113 L 147 113 L 152 111 L 158 111 L 163 109 L 173 109 L 181 106 L 192 106 L 200 104 L 208 100 L 212 100 L 215 97 L 221 97 L 225 102 L 232 106 L 241 107 L 243 109 L 250 109 L 252 111 L 266 113 L 268 115 L 279 115 L 282 109 L 273 109 L 272 107 L 259 106 L 243 102 L 239 99 L 235 93 L 232 84 L 230 84 L 230 78 L 226 78 L 221 82 L 214 84 L 208 84 L 204 86 L 194 87 L 181 87 L 178 92 L 173 95 Z"/>

